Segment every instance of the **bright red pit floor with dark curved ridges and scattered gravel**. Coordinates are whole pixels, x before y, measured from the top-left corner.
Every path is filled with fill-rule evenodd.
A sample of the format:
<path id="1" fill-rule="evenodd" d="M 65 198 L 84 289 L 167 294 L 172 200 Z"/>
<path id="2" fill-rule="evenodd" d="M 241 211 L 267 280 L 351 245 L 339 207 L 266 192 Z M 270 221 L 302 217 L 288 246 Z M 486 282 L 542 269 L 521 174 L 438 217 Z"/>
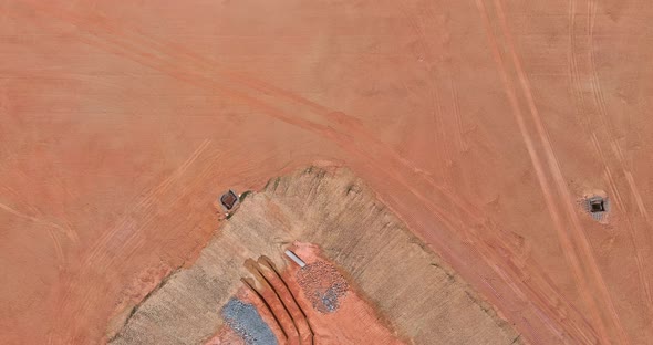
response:
<path id="1" fill-rule="evenodd" d="M 380 324 L 374 311 L 349 286 L 343 286 L 338 296 L 328 301 L 312 299 L 313 295 L 323 295 L 324 291 L 318 292 L 322 290 L 321 286 L 328 286 L 328 291 L 345 279 L 320 257 L 318 248 L 299 243 L 293 249 L 307 263 L 304 269 L 291 265 L 281 272 L 266 257 L 261 257 L 258 262 L 249 261 L 255 266 L 252 274 L 257 279 L 246 280 L 247 288 L 237 296 L 240 303 L 256 306 L 272 334 L 286 341 L 279 343 L 403 344 Z M 333 273 L 328 274 L 325 271 Z M 227 324 L 205 345 L 238 344 L 240 338 L 234 333 L 231 325 Z"/>

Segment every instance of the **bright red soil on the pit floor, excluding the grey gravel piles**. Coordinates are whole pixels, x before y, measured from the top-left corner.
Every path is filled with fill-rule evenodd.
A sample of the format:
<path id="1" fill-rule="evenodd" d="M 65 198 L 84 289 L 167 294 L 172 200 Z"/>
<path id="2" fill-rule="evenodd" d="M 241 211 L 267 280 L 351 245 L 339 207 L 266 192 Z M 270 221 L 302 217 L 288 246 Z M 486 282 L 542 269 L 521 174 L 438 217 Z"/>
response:
<path id="1" fill-rule="evenodd" d="M 320 262 L 333 268 L 321 255 L 320 249 L 315 245 L 297 242 L 291 249 L 308 265 Z M 335 268 L 333 269 L 336 271 Z M 257 307 L 263 321 L 279 339 L 279 344 L 403 344 L 383 325 L 372 306 L 361 299 L 354 289 L 348 289 L 346 293 L 338 299 L 338 307 L 332 312 L 325 313 L 319 307 L 313 307 L 309 297 L 312 293 L 311 286 L 307 289 L 307 286 L 301 285 L 298 275 L 299 271 L 299 265 L 291 263 L 287 270 L 280 272 L 283 280 L 281 281 L 278 275 L 271 273 L 272 271 L 266 270 L 266 272 L 271 273 L 266 274 L 266 279 L 277 292 L 269 288 L 259 289 L 258 292 L 267 301 L 269 309 L 249 288 L 241 289 L 237 294 L 238 300 L 253 304 Z M 314 278 L 323 285 L 334 283 L 330 281 L 330 278 L 333 276 Z M 340 275 L 339 279 L 344 280 L 344 276 Z M 291 301 L 283 301 L 282 304 L 280 299 L 291 299 Z M 274 312 L 274 316 L 270 313 L 270 309 Z M 291 334 L 290 331 L 294 331 L 294 336 L 283 336 L 279 325 L 287 330 L 288 334 Z M 297 325 L 297 328 L 294 325 Z M 312 336 L 310 336 L 311 332 Z M 224 325 L 216 336 L 205 345 L 232 344 L 230 342 L 234 342 L 235 337 L 238 337 L 238 335 L 228 325 Z"/>

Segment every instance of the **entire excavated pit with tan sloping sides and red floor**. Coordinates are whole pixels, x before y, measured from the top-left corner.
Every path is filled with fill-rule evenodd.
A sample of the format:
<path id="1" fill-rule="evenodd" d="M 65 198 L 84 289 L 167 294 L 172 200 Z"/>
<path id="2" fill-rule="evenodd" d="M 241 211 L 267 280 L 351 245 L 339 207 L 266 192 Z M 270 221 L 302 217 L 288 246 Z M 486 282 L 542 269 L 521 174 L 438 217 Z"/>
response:
<path id="1" fill-rule="evenodd" d="M 309 167 L 241 201 L 111 344 L 524 343 L 350 170 Z"/>

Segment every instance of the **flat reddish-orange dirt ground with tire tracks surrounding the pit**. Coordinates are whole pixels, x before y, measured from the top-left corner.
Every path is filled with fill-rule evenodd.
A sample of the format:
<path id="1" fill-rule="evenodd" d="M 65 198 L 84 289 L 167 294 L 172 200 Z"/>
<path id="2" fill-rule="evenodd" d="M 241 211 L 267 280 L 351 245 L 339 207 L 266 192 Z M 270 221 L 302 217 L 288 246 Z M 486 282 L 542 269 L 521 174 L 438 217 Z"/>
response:
<path id="1" fill-rule="evenodd" d="M 0 341 L 102 342 L 197 258 L 220 191 L 321 160 L 525 338 L 651 343 L 652 21 L 646 0 L 2 0 Z"/>

